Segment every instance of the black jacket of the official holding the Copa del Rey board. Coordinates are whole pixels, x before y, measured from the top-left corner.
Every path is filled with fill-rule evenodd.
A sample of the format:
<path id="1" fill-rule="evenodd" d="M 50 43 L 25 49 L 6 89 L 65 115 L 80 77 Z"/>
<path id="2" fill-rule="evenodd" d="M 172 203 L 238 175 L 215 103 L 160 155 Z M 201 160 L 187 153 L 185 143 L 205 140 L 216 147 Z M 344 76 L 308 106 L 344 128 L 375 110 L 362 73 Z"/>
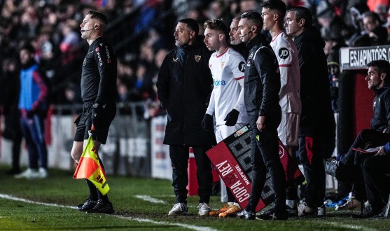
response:
<path id="1" fill-rule="evenodd" d="M 244 79 L 246 111 L 248 115 L 265 116 L 265 125 L 276 128 L 281 121 L 277 57 L 263 34 L 252 38 L 247 45 L 250 50 Z"/>

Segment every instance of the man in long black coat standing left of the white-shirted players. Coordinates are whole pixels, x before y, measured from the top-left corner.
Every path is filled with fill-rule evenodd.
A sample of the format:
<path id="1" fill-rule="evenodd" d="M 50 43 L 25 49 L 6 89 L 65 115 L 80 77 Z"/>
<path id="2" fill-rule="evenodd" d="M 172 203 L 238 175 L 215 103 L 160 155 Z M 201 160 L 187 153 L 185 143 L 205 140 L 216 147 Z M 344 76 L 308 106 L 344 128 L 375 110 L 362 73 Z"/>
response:
<path id="1" fill-rule="evenodd" d="M 211 208 L 211 162 L 206 151 L 216 144 L 214 131 L 202 129 L 213 78 L 209 69 L 212 51 L 197 36 L 199 26 L 193 19 L 180 20 L 174 32 L 177 48 L 168 53 L 158 74 L 158 99 L 168 114 L 164 144 L 169 145 L 173 167 L 176 204 L 169 215 L 188 214 L 187 194 L 189 148 L 193 147 L 197 165 L 200 196 L 199 215 L 207 215 Z"/>

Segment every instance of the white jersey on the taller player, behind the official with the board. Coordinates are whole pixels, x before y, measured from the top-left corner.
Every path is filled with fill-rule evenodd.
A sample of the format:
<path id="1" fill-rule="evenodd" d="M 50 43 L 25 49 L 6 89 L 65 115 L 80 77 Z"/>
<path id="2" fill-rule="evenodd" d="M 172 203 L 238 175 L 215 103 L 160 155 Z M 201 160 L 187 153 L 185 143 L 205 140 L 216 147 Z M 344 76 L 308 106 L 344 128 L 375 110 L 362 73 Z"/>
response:
<path id="1" fill-rule="evenodd" d="M 298 50 L 293 39 L 284 31 L 270 43 L 280 69 L 279 105 L 282 113 L 300 113 L 300 71 Z"/>

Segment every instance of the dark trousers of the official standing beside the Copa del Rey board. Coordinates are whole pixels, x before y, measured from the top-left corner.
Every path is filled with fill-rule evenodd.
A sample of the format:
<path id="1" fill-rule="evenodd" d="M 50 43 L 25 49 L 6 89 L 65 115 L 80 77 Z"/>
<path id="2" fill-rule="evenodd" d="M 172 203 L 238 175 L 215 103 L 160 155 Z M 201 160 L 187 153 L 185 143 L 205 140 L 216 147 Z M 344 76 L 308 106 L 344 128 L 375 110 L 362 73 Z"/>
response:
<path id="1" fill-rule="evenodd" d="M 256 127 L 258 116 L 249 116 L 251 125 L 251 164 L 253 171 L 251 195 L 245 210 L 256 212 L 256 206 L 263 191 L 267 169 L 270 171 L 274 190 L 274 208 L 285 211 L 286 207 L 286 174 L 279 158 L 279 139 L 277 126 L 268 124 L 267 129 L 260 132 Z M 269 119 L 269 118 L 267 118 Z"/>

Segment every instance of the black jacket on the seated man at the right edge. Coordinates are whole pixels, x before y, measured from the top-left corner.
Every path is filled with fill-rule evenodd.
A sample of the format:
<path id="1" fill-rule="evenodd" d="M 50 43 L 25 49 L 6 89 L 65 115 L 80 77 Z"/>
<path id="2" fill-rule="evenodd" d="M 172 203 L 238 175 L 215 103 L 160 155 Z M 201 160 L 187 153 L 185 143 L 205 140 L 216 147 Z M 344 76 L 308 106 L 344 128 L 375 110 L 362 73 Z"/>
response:
<path id="1" fill-rule="evenodd" d="M 374 116 L 371 118 L 371 129 L 377 132 L 390 133 L 390 81 L 375 91 L 375 99 L 372 104 Z"/>

